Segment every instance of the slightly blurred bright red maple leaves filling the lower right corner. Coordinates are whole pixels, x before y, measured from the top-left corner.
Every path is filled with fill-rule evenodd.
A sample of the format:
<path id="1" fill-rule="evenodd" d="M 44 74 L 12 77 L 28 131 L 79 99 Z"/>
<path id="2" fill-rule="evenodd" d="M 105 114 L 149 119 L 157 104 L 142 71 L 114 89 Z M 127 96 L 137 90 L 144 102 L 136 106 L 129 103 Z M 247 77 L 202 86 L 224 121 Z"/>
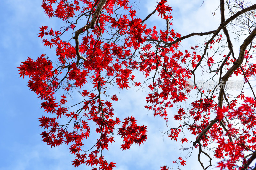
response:
<path id="1" fill-rule="evenodd" d="M 219 159 L 228 158 L 228 160 L 218 163 L 217 167 L 220 167 L 220 169 L 234 169 L 239 160 L 246 163 L 244 152 L 255 151 L 256 138 L 250 133 L 256 126 L 255 107 L 255 100 L 247 97 L 244 100 L 244 104 L 237 109 L 229 110 L 228 108 L 224 108 L 218 110 L 222 116 L 226 113 L 225 116 L 229 119 L 237 117 L 242 125 L 241 127 L 234 127 L 233 124 L 227 124 L 228 131 L 217 137 L 217 143 L 219 145 L 216 149 L 215 157 Z M 230 141 L 230 139 L 225 139 L 225 136 L 237 138 L 236 140 Z"/>

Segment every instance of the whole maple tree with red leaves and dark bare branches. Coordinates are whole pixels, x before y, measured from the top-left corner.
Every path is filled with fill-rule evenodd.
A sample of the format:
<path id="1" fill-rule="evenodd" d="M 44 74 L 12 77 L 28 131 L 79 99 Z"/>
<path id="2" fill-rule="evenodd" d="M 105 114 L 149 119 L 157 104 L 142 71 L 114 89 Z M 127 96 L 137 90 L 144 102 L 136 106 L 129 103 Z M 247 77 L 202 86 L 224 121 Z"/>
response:
<path id="1" fill-rule="evenodd" d="M 43 0 L 46 15 L 60 18 L 64 25 L 58 30 L 42 26 L 38 34 L 44 46 L 55 48 L 57 57 L 28 57 L 19 67 L 20 77 L 30 78 L 28 87 L 41 98 L 47 114 L 39 118 L 43 142 L 51 147 L 70 145 L 76 156 L 74 167 L 86 164 L 94 170 L 113 169 L 115 163 L 105 160 L 103 151 L 115 142 L 114 137 L 123 139 L 121 149 L 126 150 L 147 140 L 147 126 L 137 125 L 132 116 L 115 117 L 112 103 L 120 101 L 108 87 L 143 86 L 150 91 L 145 108 L 167 124 L 170 119 L 179 122 L 178 127 L 168 125 L 164 134 L 182 143 L 193 141 L 190 148 L 183 149 L 196 148 L 193 152 L 198 152 L 203 169 L 212 166 L 213 157 L 220 169 L 255 169 L 251 163 L 256 158 L 256 97 L 250 80 L 256 72 L 251 55 L 256 49 L 256 4 L 220 0 L 212 13 L 219 14 L 219 27 L 181 35 L 173 29 L 167 0 L 156 2 L 155 10 L 142 19 L 134 3 Z M 149 27 L 152 15 L 160 16 L 166 28 Z M 239 38 L 239 51 L 233 49 L 230 34 Z M 70 39 L 64 38 L 67 36 Z M 182 40 L 194 36 L 205 39 L 181 50 Z M 134 71 L 145 80 L 136 80 Z M 197 82 L 201 75 L 215 85 L 205 90 Z M 227 87 L 231 76 L 245 80 L 237 95 Z M 252 96 L 244 93 L 245 86 Z M 68 97 L 77 94 L 82 100 L 70 105 Z M 168 108 L 177 108 L 177 113 L 168 113 Z M 99 138 L 86 148 L 83 141 L 90 136 L 89 122 L 97 126 Z M 186 135 L 190 133 L 192 136 Z M 209 165 L 202 163 L 202 157 L 209 159 Z M 185 159 L 179 157 L 173 163 L 178 169 L 186 168 Z"/>

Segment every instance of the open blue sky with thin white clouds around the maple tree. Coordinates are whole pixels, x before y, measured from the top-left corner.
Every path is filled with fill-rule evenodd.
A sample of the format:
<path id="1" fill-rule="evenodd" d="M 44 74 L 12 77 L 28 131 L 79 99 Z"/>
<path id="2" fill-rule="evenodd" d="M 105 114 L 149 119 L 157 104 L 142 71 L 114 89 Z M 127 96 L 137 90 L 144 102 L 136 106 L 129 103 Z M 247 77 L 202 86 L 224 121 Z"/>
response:
<path id="1" fill-rule="evenodd" d="M 142 3 L 143 1 L 141 0 Z M 152 2 L 147 0 L 147 4 L 141 4 L 143 11 L 140 12 L 145 15 L 149 14 L 155 8 L 154 2 L 154 0 Z M 212 30 L 209 27 L 218 24 L 215 21 L 219 18 L 215 17 L 205 20 L 204 26 L 200 28 L 197 26 L 206 17 L 211 17 L 210 14 L 215 8 L 208 11 L 207 15 L 200 16 L 200 12 L 207 11 L 214 5 L 212 2 L 205 2 L 201 8 L 201 0 L 194 1 L 194 4 L 188 0 L 172 1 L 172 3 L 170 6 L 173 7 L 173 23 L 182 34 L 196 30 L 197 32 Z M 191 12 L 192 10 L 194 12 Z M 34 59 L 41 53 L 54 56 L 54 49 L 44 47 L 37 34 L 39 27 L 44 25 L 58 28 L 59 21 L 48 19 L 41 9 L 41 1 L 35 0 L 3 1 L 0 14 L 0 57 L 2 61 L 0 67 L 0 108 L 2 111 L 0 170 L 74 169 L 71 164 L 75 157 L 70 155 L 68 146 L 50 149 L 49 145 L 41 141 L 40 133 L 43 129 L 39 128 L 38 118 L 45 113 L 40 109 L 40 100 L 27 87 L 28 78 L 19 78 L 17 69 L 20 62 L 26 60 L 27 56 Z M 195 18 L 198 15 L 201 18 Z M 165 26 L 165 23 L 159 23 L 157 15 L 152 16 L 150 22 L 154 25 Z M 214 28 L 216 26 L 214 25 Z M 184 46 L 191 45 L 190 43 L 184 41 Z M 144 109 L 147 95 L 145 92 L 129 89 L 129 91 L 117 93 L 123 96 L 121 97 L 123 100 L 115 105 L 117 115 L 121 118 L 133 115 L 138 120 L 138 124 L 147 125 L 148 140 L 140 147 L 133 145 L 130 150 L 122 151 L 121 140 L 116 137 L 115 144 L 110 146 L 109 151 L 104 152 L 107 160 L 117 163 L 116 170 L 160 169 L 163 165 L 172 166 L 173 160 L 185 155 L 175 149 L 180 146 L 180 143 L 171 141 L 166 136 L 161 137 L 162 134 L 159 131 L 165 128 L 165 123 L 161 118 L 154 118 L 152 113 Z M 186 161 L 193 161 L 193 159 Z M 198 164 L 194 163 L 187 165 L 184 169 L 198 167 Z M 82 165 L 79 169 L 92 168 Z"/>

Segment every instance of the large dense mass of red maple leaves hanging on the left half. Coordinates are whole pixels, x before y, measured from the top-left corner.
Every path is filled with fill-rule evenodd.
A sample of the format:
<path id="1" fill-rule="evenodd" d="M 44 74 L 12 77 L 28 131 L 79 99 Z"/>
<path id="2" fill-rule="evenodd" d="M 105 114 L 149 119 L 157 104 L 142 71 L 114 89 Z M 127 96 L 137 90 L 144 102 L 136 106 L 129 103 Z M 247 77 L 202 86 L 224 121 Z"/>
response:
<path id="1" fill-rule="evenodd" d="M 65 21 L 76 17 L 76 12 L 83 14 L 92 11 L 93 14 L 96 3 L 98 1 L 92 3 L 89 0 L 75 0 L 73 2 L 66 0 L 43 0 L 42 8 L 50 18 L 58 17 Z M 114 6 L 114 4 L 117 6 Z M 114 7 L 123 8 L 124 10 L 130 9 L 129 18 L 127 15 L 113 18 Z M 161 8 L 161 11 L 165 13 L 162 9 L 165 8 L 164 6 L 159 6 L 158 8 Z M 167 11 L 170 11 L 169 7 Z M 41 134 L 43 141 L 51 145 L 51 147 L 59 146 L 63 142 L 71 144 L 70 152 L 77 157 L 73 161 L 75 167 L 84 163 L 90 166 L 98 166 L 99 169 L 112 169 L 115 167 L 115 163 L 108 163 L 99 153 L 108 149 L 109 142 L 114 142 L 111 134 L 114 132 L 115 126 L 120 123 L 120 120 L 119 118 L 113 118 L 114 110 L 112 103 L 110 101 L 104 102 L 102 97 L 100 97 L 100 91 L 105 88 L 107 77 L 113 77 L 115 82 L 112 83 L 115 83 L 120 89 L 129 88 L 128 81 L 134 80 L 132 69 L 138 69 L 139 66 L 137 61 L 133 61 L 130 58 L 132 56 L 130 48 L 140 47 L 145 42 L 146 36 L 150 36 L 153 33 L 153 30 L 147 29 L 145 24 L 142 25 L 141 19 L 134 18 L 136 13 L 136 10 L 130 8 L 129 1 L 107 1 L 101 12 L 101 17 L 98 18 L 101 30 L 95 27 L 90 31 L 90 34 L 82 38 L 79 51 L 85 56 L 85 60 L 82 63 L 83 68 L 77 67 L 76 63 L 73 62 L 77 57 L 75 46 L 71 45 L 68 41 L 60 39 L 60 35 L 68 31 L 69 27 L 75 29 L 76 23 L 71 24 L 62 31 L 53 31 L 52 28 L 48 29 L 48 26 L 40 28 L 38 37 L 42 39 L 45 36 L 50 36 L 49 39 L 42 40 L 44 46 L 56 47 L 56 55 L 60 65 L 54 68 L 54 70 L 52 62 L 44 54 L 36 61 L 28 58 L 19 67 L 20 77 L 29 76 L 28 86 L 43 100 L 41 107 L 46 112 L 56 114 L 56 117 L 42 116 L 42 118 L 39 118 L 40 126 L 47 129 L 47 131 Z M 98 39 L 101 34 L 100 31 L 104 32 L 107 23 L 113 28 L 115 27 L 120 30 L 120 35 L 126 35 L 123 45 L 106 43 Z M 155 30 L 154 34 L 157 35 Z M 147 49 L 149 50 L 150 46 Z M 143 70 L 143 65 L 140 68 Z M 63 73 L 65 70 L 67 71 L 66 74 Z M 105 78 L 102 76 L 103 71 L 106 72 Z M 63 74 L 64 76 L 61 78 Z M 54 98 L 54 95 L 59 87 L 64 86 L 64 89 L 69 93 L 72 88 L 83 88 L 87 84 L 88 79 L 94 85 L 93 88 L 99 93 L 87 92 L 91 90 L 84 88 L 81 94 L 87 99 L 83 102 L 84 105 L 82 105 L 81 109 L 72 111 L 70 107 L 66 106 L 67 94 L 61 96 L 58 104 L 58 100 Z M 135 83 L 135 85 L 140 86 L 140 83 Z M 118 98 L 116 95 L 112 95 L 111 100 L 118 101 Z M 80 117 L 81 115 L 83 115 L 83 118 Z M 66 125 L 60 125 L 58 119 L 61 116 L 70 118 L 70 121 Z M 70 132 L 68 126 L 71 121 L 74 121 L 74 130 Z M 87 155 L 89 150 L 85 151 L 82 147 L 83 139 L 87 139 L 90 134 L 89 121 L 94 122 L 98 126 L 95 131 L 100 134 L 100 138 L 97 139 L 95 150 Z M 146 126 L 138 126 L 135 121 L 133 117 L 125 118 L 124 122 L 122 122 L 122 127 L 118 130 L 118 134 L 124 140 L 124 144 L 121 146 L 123 149 L 129 149 L 133 143 L 143 144 L 147 139 Z"/>

